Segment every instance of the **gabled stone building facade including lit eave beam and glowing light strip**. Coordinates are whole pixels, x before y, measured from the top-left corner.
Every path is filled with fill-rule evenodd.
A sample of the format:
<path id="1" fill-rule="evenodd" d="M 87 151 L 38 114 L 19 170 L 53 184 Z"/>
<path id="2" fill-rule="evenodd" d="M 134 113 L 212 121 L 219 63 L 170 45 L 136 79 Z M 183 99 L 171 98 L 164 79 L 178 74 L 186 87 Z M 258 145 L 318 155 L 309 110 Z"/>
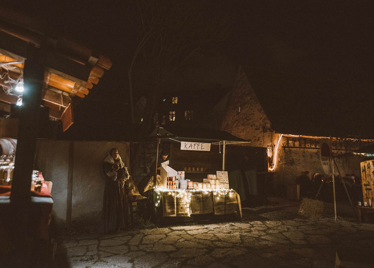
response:
<path id="1" fill-rule="evenodd" d="M 298 133 L 294 133 L 295 128 L 292 129 L 293 133 L 287 133 L 284 129 L 277 131 L 261 105 L 256 90 L 252 88 L 246 71 L 239 67 L 232 90 L 215 106 L 214 113 L 221 118 L 221 130 L 251 140 L 249 146 L 268 149 L 269 167 L 275 172 L 275 184 L 295 183 L 305 170 L 308 170 L 311 176 L 314 173 L 324 173 L 319 150 L 321 138 L 331 138 L 332 152 L 336 155 L 373 144 L 373 140 L 311 136 L 301 127 Z M 272 98 L 269 97 L 269 101 L 272 101 Z M 289 121 L 286 117 L 281 120 Z M 355 173 L 360 176 L 361 161 L 362 158 L 353 155 L 337 158 L 341 175 Z M 335 174 L 338 174 L 337 170 Z"/>

